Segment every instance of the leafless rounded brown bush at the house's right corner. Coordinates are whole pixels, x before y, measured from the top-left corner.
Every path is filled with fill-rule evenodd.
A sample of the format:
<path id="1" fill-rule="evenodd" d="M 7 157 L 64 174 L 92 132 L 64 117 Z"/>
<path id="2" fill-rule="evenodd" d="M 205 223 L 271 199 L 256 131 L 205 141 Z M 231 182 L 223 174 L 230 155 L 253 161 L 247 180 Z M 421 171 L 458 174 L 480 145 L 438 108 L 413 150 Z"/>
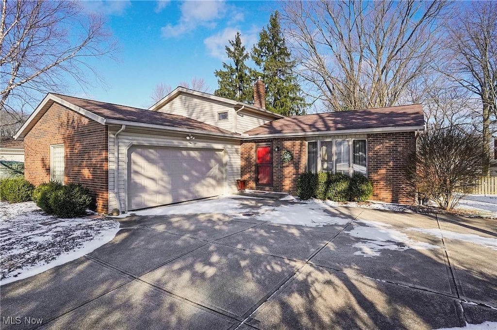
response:
<path id="1" fill-rule="evenodd" d="M 480 178 L 482 141 L 480 134 L 455 126 L 420 134 L 416 152 L 406 160 L 406 184 L 439 207 L 454 208 Z"/>

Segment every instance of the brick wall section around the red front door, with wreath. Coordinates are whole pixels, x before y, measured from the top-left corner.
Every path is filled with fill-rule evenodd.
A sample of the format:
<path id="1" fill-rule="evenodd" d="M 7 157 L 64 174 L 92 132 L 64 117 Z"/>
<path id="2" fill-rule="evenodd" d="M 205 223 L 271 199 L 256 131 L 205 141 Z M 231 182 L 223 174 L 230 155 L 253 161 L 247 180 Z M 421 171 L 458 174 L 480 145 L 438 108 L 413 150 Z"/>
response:
<path id="1" fill-rule="evenodd" d="M 273 149 L 273 185 L 271 187 L 255 184 L 255 146 L 257 143 L 267 142 L 272 142 Z M 279 148 L 278 152 L 274 151 L 276 147 Z M 305 138 L 244 141 L 240 149 L 241 178 L 247 181 L 248 189 L 296 193 L 299 175 L 306 170 Z M 285 150 L 293 154 L 293 159 L 289 163 L 281 161 L 281 153 Z"/>

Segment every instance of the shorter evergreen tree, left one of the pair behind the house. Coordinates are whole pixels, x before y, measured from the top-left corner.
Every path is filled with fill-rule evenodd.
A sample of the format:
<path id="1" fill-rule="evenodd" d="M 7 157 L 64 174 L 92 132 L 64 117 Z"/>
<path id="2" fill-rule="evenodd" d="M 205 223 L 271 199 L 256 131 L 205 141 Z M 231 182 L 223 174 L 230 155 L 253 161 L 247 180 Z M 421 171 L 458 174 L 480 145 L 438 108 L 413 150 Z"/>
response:
<path id="1" fill-rule="evenodd" d="M 240 32 L 237 32 L 235 41 L 230 40 L 226 46 L 226 55 L 233 61 L 233 65 L 223 63 L 224 70 L 216 70 L 214 75 L 218 78 L 218 89 L 214 94 L 245 103 L 253 102 L 252 79 L 250 69 L 245 64 L 249 54 L 242 44 Z"/>

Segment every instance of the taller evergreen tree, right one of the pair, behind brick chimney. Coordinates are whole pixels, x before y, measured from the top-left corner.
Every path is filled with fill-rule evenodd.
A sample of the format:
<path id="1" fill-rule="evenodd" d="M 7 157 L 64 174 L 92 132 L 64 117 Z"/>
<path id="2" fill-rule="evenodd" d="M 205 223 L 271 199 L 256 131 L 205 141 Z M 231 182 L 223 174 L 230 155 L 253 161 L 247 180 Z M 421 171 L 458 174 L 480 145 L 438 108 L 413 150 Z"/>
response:
<path id="1" fill-rule="evenodd" d="M 294 74 L 296 64 L 286 46 L 278 11 L 271 14 L 267 30 L 262 28 L 251 55 L 266 84 L 266 108 L 285 116 L 304 114 L 307 104 Z"/>

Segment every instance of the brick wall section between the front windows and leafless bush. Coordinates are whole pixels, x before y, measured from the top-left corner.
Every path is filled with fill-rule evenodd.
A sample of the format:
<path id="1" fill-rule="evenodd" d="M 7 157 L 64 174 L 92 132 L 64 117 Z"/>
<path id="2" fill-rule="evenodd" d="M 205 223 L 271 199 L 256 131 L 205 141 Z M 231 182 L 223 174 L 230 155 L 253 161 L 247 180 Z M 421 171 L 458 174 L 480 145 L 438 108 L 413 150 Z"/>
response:
<path id="1" fill-rule="evenodd" d="M 414 132 L 368 134 L 368 177 L 373 181 L 372 200 L 413 204 L 415 191 L 403 186 L 401 172 L 406 157 L 416 150 Z"/>

